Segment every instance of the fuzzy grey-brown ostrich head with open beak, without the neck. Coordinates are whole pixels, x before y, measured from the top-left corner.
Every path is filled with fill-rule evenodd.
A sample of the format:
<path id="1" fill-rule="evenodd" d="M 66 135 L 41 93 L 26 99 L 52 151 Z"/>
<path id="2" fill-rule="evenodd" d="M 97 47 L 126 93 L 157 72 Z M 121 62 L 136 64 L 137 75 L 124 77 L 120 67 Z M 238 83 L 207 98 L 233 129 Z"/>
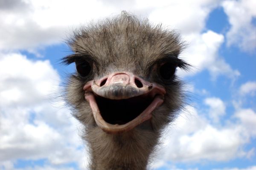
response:
<path id="1" fill-rule="evenodd" d="M 175 71 L 186 68 L 177 34 L 133 18 L 101 24 L 76 32 L 69 41 L 74 54 L 63 59 L 76 63 L 68 85 L 75 116 L 107 133 L 170 122 L 181 97 Z"/>

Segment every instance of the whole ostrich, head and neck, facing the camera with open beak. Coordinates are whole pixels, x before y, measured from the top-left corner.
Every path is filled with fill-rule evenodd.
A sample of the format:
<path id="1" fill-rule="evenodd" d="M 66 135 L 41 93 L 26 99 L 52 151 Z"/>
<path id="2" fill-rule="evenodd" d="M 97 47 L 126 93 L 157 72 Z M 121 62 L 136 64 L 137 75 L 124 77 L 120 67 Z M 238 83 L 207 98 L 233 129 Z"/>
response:
<path id="1" fill-rule="evenodd" d="M 73 116 L 84 125 L 91 170 L 145 170 L 160 135 L 183 105 L 175 31 L 121 15 L 74 31 L 76 73 L 67 83 Z"/>

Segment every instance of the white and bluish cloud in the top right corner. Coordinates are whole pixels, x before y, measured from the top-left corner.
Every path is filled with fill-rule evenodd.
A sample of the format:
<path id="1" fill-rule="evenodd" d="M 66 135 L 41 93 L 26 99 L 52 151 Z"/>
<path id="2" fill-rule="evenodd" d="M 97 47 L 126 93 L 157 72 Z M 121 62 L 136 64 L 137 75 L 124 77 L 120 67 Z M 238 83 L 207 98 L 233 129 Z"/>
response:
<path id="1" fill-rule="evenodd" d="M 237 45 L 244 51 L 256 50 L 255 0 L 225 0 L 222 3 L 231 25 L 227 32 L 227 45 Z"/>

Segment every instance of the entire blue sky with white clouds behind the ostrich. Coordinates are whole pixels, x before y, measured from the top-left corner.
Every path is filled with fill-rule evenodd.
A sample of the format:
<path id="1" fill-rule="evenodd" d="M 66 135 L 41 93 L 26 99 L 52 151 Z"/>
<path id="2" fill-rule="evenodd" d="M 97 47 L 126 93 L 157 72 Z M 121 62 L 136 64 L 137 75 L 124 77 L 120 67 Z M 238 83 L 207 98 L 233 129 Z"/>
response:
<path id="1" fill-rule="evenodd" d="M 256 170 L 255 0 L 0 0 L 0 170 L 84 170 L 87 146 L 61 91 L 75 28 L 126 10 L 180 32 L 186 111 L 153 170 Z"/>

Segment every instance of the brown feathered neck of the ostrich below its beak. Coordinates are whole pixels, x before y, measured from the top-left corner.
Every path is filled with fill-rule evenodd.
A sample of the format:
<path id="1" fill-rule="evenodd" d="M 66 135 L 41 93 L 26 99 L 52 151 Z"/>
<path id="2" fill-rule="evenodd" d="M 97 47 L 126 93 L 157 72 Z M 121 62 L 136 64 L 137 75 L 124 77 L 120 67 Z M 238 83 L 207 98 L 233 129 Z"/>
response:
<path id="1" fill-rule="evenodd" d="M 105 133 L 99 127 L 86 132 L 91 170 L 145 170 L 159 136 L 136 128 L 118 135 Z"/>

